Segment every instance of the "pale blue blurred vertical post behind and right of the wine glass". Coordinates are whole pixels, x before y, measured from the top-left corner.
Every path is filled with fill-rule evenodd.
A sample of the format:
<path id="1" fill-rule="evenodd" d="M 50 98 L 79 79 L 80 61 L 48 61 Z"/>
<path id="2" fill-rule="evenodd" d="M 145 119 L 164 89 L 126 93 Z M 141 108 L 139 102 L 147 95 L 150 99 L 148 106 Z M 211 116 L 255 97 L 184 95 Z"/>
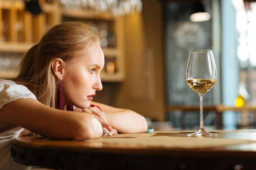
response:
<path id="1" fill-rule="evenodd" d="M 221 74 L 222 103 L 234 105 L 238 89 L 238 60 L 236 56 L 236 11 L 232 0 L 221 0 Z M 223 113 L 223 128 L 236 129 L 236 112 Z"/>

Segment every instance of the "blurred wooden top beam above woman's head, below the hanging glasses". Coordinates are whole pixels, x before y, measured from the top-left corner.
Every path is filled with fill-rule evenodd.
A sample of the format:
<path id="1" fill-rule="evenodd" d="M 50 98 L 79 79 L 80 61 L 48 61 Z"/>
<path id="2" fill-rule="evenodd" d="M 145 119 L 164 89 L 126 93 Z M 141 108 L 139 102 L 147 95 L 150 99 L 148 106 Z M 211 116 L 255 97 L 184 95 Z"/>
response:
<path id="1" fill-rule="evenodd" d="M 70 18 L 88 18 L 97 20 L 115 20 L 115 17 L 111 13 L 95 13 L 91 10 L 82 10 L 77 8 L 67 9 L 61 8 L 61 15 Z"/>

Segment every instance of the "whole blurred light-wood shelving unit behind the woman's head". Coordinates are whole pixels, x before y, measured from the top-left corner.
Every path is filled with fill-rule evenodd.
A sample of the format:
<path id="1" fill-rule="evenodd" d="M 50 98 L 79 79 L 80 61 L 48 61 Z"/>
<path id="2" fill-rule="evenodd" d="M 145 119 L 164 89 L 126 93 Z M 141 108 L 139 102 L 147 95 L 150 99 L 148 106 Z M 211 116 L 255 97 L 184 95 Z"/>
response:
<path id="1" fill-rule="evenodd" d="M 124 80 L 124 59 L 123 59 L 123 21 L 121 17 L 116 17 L 111 13 L 96 13 L 95 11 L 82 8 L 65 8 L 61 7 L 59 1 L 54 0 L 53 3 L 46 3 L 46 0 L 39 0 L 42 13 L 32 15 L 25 10 L 25 3 L 22 1 L 0 0 L 0 18 L 8 25 L 8 30 L 3 30 L 0 21 L 0 52 L 8 53 L 25 53 L 35 43 L 37 43 L 44 33 L 54 25 L 61 22 L 61 18 L 70 20 L 97 20 L 97 24 L 110 25 L 115 33 L 115 48 L 103 47 L 102 51 L 105 57 L 113 57 L 115 67 L 118 68 L 112 75 L 101 73 L 103 82 L 121 82 Z M 21 20 L 23 29 L 17 30 L 13 25 Z M 97 25 L 96 24 L 96 25 Z M 12 55 L 12 54 L 10 54 Z M 112 60 L 112 59 L 110 59 Z M 2 69 L 2 70 L 1 70 Z M 0 68 L 1 78 L 14 77 L 15 70 L 4 70 Z"/>

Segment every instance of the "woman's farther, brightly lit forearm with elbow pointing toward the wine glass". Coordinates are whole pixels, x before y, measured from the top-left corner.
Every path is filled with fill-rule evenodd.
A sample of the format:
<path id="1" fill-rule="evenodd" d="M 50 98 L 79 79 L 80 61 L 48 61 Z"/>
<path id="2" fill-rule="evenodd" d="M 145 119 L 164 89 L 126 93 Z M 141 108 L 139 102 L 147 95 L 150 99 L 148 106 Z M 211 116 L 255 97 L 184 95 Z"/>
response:
<path id="1" fill-rule="evenodd" d="M 112 128 L 120 133 L 143 133 L 148 128 L 145 118 L 132 110 L 119 109 L 97 102 L 90 103 L 100 106 Z"/>

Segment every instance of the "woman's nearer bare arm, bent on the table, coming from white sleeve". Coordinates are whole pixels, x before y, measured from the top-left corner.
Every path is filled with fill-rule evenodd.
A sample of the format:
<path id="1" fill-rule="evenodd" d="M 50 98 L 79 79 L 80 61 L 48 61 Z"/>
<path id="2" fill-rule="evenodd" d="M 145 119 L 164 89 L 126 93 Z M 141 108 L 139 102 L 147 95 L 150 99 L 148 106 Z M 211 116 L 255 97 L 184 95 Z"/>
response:
<path id="1" fill-rule="evenodd" d="M 0 123 L 17 125 L 57 139 L 91 139 L 102 135 L 100 122 L 86 112 L 57 110 L 31 98 L 18 99 L 0 109 Z"/>

